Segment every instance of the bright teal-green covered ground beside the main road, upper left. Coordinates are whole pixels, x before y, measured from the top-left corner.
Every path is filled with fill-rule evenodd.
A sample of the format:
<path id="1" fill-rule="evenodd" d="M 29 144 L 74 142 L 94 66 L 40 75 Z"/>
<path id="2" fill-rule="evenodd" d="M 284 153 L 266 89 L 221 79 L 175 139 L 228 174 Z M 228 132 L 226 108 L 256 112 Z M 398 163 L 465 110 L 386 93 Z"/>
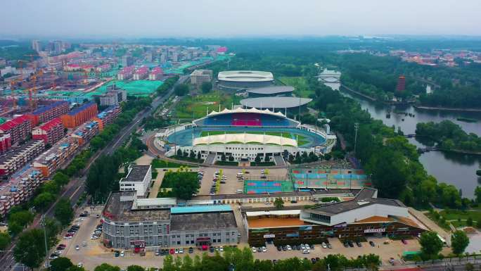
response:
<path id="1" fill-rule="evenodd" d="M 152 81 L 152 80 L 134 80 L 134 81 L 119 81 L 119 80 L 112 80 L 103 86 L 96 89 L 94 92 L 96 94 L 105 93 L 107 91 L 107 87 L 115 84 L 118 88 L 124 89 L 127 91 L 127 95 L 132 96 L 148 96 L 155 92 L 155 90 L 162 85 L 164 82 L 162 81 Z"/>

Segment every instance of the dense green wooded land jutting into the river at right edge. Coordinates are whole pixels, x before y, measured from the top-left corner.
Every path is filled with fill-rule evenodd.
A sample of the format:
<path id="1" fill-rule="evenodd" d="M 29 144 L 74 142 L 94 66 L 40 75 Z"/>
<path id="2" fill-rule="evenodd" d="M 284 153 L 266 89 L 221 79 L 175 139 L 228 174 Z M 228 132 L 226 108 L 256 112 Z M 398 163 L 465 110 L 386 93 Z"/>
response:
<path id="1" fill-rule="evenodd" d="M 416 125 L 416 135 L 429 137 L 437 142 L 440 149 L 446 151 L 481 152 L 481 137 L 464 132 L 461 126 L 451 120 L 419 122 Z"/>

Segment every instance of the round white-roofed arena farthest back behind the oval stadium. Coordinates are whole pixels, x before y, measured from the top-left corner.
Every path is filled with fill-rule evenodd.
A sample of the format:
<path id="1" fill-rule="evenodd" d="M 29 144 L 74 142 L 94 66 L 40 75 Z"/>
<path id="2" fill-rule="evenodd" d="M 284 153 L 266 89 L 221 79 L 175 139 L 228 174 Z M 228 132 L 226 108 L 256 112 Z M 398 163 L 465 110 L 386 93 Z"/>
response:
<path id="1" fill-rule="evenodd" d="M 221 89 L 241 90 L 269 87 L 274 82 L 274 75 L 258 70 L 229 70 L 219 72 L 217 85 Z"/>

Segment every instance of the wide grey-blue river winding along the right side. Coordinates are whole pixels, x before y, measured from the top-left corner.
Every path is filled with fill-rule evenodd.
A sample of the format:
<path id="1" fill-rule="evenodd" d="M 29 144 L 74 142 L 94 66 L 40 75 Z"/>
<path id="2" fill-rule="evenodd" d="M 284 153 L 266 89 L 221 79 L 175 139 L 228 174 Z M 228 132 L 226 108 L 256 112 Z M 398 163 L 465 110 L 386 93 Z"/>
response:
<path id="1" fill-rule="evenodd" d="M 339 84 L 330 85 L 333 89 L 339 89 Z M 401 127 L 404 134 L 414 134 L 418 122 L 440 122 L 451 120 L 460 125 L 466 132 L 473 132 L 481 135 L 481 113 L 479 112 L 447 112 L 447 111 L 426 111 L 413 108 L 412 106 L 386 106 L 383 104 L 367 101 L 356 94 L 350 94 L 342 90 L 342 94 L 350 96 L 361 103 L 361 107 L 371 113 L 376 120 L 382 120 L 385 125 Z M 391 111 L 391 118 L 387 118 L 387 113 Z M 413 116 L 397 114 L 394 112 L 411 113 Z M 456 118 L 474 118 L 478 122 L 461 122 Z M 420 147 L 428 146 L 428 142 L 421 143 L 419 139 L 410 138 L 409 141 Z M 481 185 L 481 177 L 477 177 L 476 170 L 480 168 L 481 156 L 466 155 L 461 153 L 447 153 L 442 151 L 430 151 L 421 154 L 419 158 L 428 174 L 436 177 L 438 182 L 454 184 L 461 189 L 463 196 L 474 197 L 474 189 Z"/>

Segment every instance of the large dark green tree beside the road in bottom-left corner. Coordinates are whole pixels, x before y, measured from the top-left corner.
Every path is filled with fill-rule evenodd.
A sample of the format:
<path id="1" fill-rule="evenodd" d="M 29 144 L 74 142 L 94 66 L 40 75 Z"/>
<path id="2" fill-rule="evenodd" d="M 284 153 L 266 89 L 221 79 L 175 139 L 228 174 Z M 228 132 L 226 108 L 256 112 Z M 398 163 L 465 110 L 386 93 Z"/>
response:
<path id="1" fill-rule="evenodd" d="M 13 248 L 13 257 L 27 267 L 39 267 L 45 258 L 43 229 L 30 229 L 20 234 L 17 245 Z"/>

